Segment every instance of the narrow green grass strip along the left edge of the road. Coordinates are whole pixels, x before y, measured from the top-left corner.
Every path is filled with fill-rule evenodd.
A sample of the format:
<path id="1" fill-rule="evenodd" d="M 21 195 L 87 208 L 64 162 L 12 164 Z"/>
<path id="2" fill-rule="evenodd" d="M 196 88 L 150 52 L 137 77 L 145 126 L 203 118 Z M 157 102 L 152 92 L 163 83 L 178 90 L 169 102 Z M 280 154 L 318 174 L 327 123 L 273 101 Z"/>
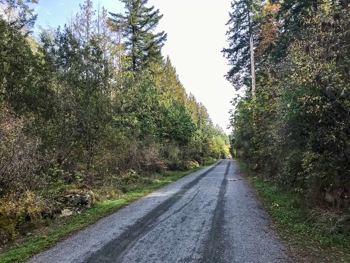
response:
<path id="1" fill-rule="evenodd" d="M 73 232 L 81 230 L 88 225 L 95 223 L 101 218 L 113 213 L 114 211 L 124 207 L 127 204 L 137 200 L 138 198 L 151 193 L 154 190 L 162 188 L 167 184 L 176 181 L 177 179 L 194 173 L 204 167 L 208 167 L 215 161 L 208 162 L 200 167 L 195 167 L 187 171 L 166 171 L 162 176 L 157 177 L 150 182 L 137 184 L 136 189 L 130 190 L 121 197 L 108 200 L 103 203 L 97 203 L 89 210 L 83 211 L 81 214 L 62 219 L 61 224 L 57 228 L 42 234 L 27 238 L 22 244 L 16 245 L 11 250 L 8 250 L 0 255 L 0 263 L 20 262 L 31 255 L 41 252 L 44 249 L 50 248 L 52 245 L 60 241 Z"/>

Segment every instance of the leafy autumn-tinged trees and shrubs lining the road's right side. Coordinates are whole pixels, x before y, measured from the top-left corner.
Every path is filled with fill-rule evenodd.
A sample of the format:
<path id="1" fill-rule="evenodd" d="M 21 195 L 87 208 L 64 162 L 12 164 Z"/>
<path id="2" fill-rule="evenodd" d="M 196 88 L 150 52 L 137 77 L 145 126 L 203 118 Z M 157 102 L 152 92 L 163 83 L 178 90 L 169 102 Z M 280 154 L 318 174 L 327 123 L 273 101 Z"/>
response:
<path id="1" fill-rule="evenodd" d="M 232 100 L 231 142 L 267 181 L 347 214 L 349 2 L 268 2 L 260 12 L 269 27 L 261 20 L 255 34 L 274 45 L 262 41 L 254 50 L 257 94 L 247 88 Z"/>

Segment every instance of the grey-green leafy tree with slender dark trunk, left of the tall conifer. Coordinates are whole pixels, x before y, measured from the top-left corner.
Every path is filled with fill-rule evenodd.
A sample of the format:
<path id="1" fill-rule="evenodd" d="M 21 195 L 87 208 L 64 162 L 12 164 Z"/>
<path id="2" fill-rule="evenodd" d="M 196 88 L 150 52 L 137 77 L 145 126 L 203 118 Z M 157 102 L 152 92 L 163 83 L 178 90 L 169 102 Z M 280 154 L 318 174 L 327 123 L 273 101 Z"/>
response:
<path id="1" fill-rule="evenodd" d="M 55 39 L 42 35 L 44 67 L 54 74 L 51 79 L 56 85 L 54 117 L 55 129 L 65 133 L 68 143 L 82 141 L 86 156 L 85 175 L 91 182 L 91 164 L 97 144 L 104 139 L 104 131 L 113 120 L 111 99 L 112 72 L 102 49 L 91 40 L 81 48 L 81 43 L 68 28 L 57 31 Z M 49 74 L 50 74 L 49 73 Z M 62 120 L 65 116 L 65 120 Z M 69 120 L 67 123 L 66 120 Z M 58 136 L 60 134 L 57 134 Z M 56 135 L 56 136 L 57 136 Z"/>

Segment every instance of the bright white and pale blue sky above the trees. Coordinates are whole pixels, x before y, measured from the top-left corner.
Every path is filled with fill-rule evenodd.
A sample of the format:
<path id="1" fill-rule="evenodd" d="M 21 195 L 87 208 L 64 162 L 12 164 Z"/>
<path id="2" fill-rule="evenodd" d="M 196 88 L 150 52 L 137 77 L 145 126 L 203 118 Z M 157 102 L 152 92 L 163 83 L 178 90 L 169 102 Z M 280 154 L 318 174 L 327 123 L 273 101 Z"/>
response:
<path id="1" fill-rule="evenodd" d="M 38 14 L 36 25 L 63 26 L 66 17 L 72 11 L 77 13 L 82 2 L 39 0 L 34 6 Z M 98 0 L 93 2 L 97 5 Z M 109 12 L 119 13 L 124 7 L 118 0 L 100 2 Z M 163 56 L 170 56 L 187 93 L 203 102 L 213 122 L 226 129 L 230 100 L 237 93 L 224 78 L 228 66 L 221 53 L 228 45 L 225 23 L 229 19 L 230 0 L 149 0 L 147 5 L 154 5 L 164 14 L 157 29 L 168 33 Z"/>

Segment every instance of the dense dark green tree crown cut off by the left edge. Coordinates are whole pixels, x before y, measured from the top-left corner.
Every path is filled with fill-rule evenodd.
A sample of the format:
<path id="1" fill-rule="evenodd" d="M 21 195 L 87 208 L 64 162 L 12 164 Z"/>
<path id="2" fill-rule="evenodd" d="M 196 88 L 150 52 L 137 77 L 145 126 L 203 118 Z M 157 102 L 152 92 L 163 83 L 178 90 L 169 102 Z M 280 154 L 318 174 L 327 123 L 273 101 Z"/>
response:
<path id="1" fill-rule="evenodd" d="M 33 110 L 42 114 L 50 94 L 37 81 L 42 77 L 40 58 L 33 54 L 26 35 L 16 27 L 0 19 L 0 28 L 0 100 L 9 103 L 18 114 Z"/>

